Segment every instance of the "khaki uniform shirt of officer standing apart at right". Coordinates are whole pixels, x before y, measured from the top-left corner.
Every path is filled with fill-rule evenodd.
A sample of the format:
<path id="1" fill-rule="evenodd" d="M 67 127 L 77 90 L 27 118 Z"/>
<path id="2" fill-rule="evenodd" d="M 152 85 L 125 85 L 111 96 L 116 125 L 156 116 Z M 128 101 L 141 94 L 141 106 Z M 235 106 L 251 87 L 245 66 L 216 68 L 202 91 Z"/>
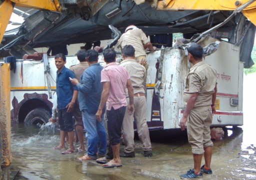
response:
<path id="1" fill-rule="evenodd" d="M 217 82 L 217 72 L 204 61 L 194 64 L 186 76 L 183 100 L 187 103 L 190 93 L 198 92 L 194 107 L 211 105 L 212 93 Z"/>

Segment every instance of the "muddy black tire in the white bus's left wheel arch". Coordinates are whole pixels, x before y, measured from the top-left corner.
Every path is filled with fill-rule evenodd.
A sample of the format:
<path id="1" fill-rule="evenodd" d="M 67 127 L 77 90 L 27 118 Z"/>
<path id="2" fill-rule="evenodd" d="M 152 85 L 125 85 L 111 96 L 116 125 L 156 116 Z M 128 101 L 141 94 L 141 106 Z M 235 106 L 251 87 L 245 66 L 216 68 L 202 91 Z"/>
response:
<path id="1" fill-rule="evenodd" d="M 24 119 L 24 124 L 37 125 L 45 124 L 48 122 L 48 119 L 51 117 L 50 113 L 44 108 L 35 108 L 31 110 Z"/>

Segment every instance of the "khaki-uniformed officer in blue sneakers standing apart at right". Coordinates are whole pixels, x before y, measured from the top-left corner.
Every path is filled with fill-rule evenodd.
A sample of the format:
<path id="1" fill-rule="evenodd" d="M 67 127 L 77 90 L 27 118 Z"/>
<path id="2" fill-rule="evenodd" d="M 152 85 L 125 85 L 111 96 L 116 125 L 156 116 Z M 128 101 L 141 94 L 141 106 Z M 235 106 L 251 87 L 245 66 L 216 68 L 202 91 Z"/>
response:
<path id="1" fill-rule="evenodd" d="M 179 125 L 187 128 L 188 142 L 192 147 L 194 168 L 181 174 L 180 178 L 202 177 L 202 172 L 212 173 L 210 168 L 212 141 L 210 128 L 215 113 L 217 72 L 202 60 L 202 47 L 192 44 L 188 47 L 188 60 L 193 64 L 186 76 L 183 100 L 186 104 Z M 202 154 L 205 164 L 201 166 Z M 201 168 L 200 168 L 201 166 Z"/>

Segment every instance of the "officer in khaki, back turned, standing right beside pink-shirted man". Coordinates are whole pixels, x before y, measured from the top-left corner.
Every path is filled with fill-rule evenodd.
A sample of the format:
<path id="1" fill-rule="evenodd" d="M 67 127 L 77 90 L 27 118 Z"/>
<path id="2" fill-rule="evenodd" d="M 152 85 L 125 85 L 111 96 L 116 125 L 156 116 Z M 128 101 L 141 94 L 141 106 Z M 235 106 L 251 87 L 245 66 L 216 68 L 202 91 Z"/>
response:
<path id="1" fill-rule="evenodd" d="M 134 112 L 133 115 L 128 113 L 126 109 L 122 127 L 123 127 L 123 140 L 125 148 L 120 153 L 121 157 L 135 157 L 134 152 L 134 129 L 133 120 L 136 122 L 137 132 L 140 142 L 143 145 L 144 156 L 152 156 L 151 142 L 149 137 L 149 131 L 146 124 L 145 111 L 146 111 L 146 98 L 143 82 L 146 78 L 146 69 L 143 65 L 136 62 L 134 59 L 135 49 L 132 45 L 124 45 L 122 48 L 123 60 L 120 62 L 120 66 L 123 66 L 131 80 L 133 87 L 133 100 L 134 100 Z M 126 89 L 126 100 L 129 103 L 128 90 Z"/>

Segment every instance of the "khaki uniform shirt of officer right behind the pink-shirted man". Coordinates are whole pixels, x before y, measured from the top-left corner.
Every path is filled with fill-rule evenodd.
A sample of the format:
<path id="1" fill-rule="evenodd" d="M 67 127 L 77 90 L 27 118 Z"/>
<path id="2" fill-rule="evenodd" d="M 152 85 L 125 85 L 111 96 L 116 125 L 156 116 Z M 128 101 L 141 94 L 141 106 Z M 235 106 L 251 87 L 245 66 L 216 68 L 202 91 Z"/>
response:
<path id="1" fill-rule="evenodd" d="M 146 79 L 146 69 L 143 65 L 136 62 L 135 59 L 128 58 L 120 62 L 120 66 L 123 66 L 131 80 L 133 87 L 133 93 L 145 93 L 143 82 Z M 128 96 L 128 90 L 126 88 L 126 97 Z"/>

